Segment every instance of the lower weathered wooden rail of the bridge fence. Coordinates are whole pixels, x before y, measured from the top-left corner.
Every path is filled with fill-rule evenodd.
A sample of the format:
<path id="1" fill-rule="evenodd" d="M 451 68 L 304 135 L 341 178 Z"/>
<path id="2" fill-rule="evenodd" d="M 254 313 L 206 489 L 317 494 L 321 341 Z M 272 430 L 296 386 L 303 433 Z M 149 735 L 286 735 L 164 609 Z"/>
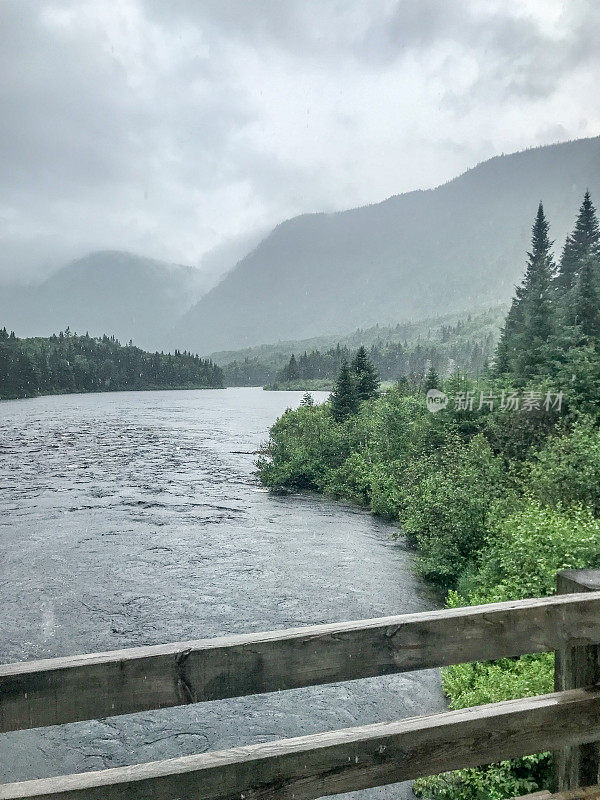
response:
<path id="1" fill-rule="evenodd" d="M 0 787 L 0 800 L 312 800 L 577 745 L 600 687 Z"/>

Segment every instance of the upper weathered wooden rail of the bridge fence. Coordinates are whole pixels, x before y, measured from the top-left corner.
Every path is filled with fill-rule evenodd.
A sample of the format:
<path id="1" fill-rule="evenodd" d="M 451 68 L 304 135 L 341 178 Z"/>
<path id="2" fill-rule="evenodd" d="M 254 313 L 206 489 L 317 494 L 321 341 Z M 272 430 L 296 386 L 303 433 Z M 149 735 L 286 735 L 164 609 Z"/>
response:
<path id="1" fill-rule="evenodd" d="M 600 591 L 0 666 L 0 732 L 600 642 Z"/>

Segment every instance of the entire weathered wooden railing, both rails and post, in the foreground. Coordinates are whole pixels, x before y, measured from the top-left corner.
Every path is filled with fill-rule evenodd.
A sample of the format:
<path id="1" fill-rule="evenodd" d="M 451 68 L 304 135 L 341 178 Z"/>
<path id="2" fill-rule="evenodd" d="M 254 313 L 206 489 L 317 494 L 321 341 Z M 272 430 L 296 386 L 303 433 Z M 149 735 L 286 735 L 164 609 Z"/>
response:
<path id="1" fill-rule="evenodd" d="M 0 800 L 310 800 L 558 751 L 596 783 L 600 571 L 554 597 L 0 666 L 0 732 L 557 651 L 556 692 L 218 752 L 0 786 Z M 596 743 L 596 744 L 594 744 Z"/>

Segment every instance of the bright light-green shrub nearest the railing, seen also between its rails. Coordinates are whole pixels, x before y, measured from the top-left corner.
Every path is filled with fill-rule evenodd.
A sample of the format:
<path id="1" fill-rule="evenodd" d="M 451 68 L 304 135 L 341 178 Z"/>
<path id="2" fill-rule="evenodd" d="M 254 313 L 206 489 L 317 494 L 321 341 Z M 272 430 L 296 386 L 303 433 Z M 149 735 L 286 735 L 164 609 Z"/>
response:
<path id="1" fill-rule="evenodd" d="M 480 568 L 471 577 L 471 592 L 467 597 L 451 592 L 449 605 L 549 595 L 555 591 L 558 571 L 586 567 L 600 567 L 600 520 L 589 509 L 566 512 L 527 500 L 521 509 L 496 522 Z M 545 653 L 458 664 L 442 674 L 451 707 L 466 708 L 551 692 L 554 657 Z M 551 767 L 551 756 L 542 753 L 427 778 L 417 782 L 416 790 L 421 796 L 444 800 L 513 797 L 547 787 Z"/>

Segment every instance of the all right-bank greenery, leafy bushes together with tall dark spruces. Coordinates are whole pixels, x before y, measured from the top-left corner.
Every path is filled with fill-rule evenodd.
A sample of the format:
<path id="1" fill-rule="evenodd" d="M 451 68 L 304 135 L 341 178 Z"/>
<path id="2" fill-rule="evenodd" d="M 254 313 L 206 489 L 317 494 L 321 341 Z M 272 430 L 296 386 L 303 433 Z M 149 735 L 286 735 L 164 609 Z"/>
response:
<path id="1" fill-rule="evenodd" d="M 558 259 L 540 203 L 523 280 L 481 375 L 431 359 L 418 379 L 382 392 L 359 349 L 326 403 L 307 393 L 277 420 L 262 481 L 396 521 L 449 606 L 552 594 L 558 570 L 600 567 L 599 297 L 589 193 Z M 443 683 L 452 708 L 541 694 L 552 691 L 553 656 L 459 665 Z M 551 774 L 541 753 L 422 779 L 415 791 L 502 800 L 548 788 Z"/>

